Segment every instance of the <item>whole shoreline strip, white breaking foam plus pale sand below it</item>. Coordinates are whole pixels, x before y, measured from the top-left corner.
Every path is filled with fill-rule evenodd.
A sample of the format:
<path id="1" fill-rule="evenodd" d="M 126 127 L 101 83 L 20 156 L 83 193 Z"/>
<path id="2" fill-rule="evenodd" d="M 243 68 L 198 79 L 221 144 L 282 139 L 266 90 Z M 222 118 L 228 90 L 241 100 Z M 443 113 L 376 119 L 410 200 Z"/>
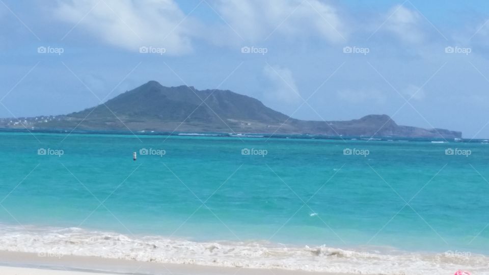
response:
<path id="1" fill-rule="evenodd" d="M 2 275 L 42 274 L 37 269 L 144 275 L 446 275 L 462 269 L 489 275 L 489 257 L 458 251 L 381 253 L 324 245 L 292 248 L 149 236 L 130 238 L 73 228 L 32 232 L 15 229 L 6 227 L 4 236 L 0 236 Z M 36 270 L 17 272 L 7 267 Z"/>

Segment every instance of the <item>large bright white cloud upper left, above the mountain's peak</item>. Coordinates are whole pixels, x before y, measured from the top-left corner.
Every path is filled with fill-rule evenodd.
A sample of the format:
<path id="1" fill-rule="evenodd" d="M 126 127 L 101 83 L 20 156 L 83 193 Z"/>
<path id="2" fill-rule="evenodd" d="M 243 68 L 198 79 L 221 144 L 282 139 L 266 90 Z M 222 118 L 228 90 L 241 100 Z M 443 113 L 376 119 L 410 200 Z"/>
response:
<path id="1" fill-rule="evenodd" d="M 77 24 L 73 32 L 85 29 L 124 49 L 137 51 L 141 46 L 153 46 L 165 48 L 168 54 L 192 51 L 193 20 L 181 22 L 185 14 L 173 0 L 62 0 L 55 15 Z"/>

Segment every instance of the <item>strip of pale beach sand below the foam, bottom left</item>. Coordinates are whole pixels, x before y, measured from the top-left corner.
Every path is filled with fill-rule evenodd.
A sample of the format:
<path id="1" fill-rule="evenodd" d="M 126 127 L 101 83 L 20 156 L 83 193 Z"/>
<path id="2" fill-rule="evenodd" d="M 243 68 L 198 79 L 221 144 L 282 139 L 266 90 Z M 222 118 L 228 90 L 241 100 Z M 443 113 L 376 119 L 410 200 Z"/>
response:
<path id="1" fill-rule="evenodd" d="M 93 256 L 40 257 L 36 253 L 0 251 L 0 274 L 3 275 L 348 275 L 293 271 L 285 269 L 257 269 L 242 267 L 214 267 L 197 264 L 163 264 Z M 377 274 L 369 274 L 377 275 Z"/>

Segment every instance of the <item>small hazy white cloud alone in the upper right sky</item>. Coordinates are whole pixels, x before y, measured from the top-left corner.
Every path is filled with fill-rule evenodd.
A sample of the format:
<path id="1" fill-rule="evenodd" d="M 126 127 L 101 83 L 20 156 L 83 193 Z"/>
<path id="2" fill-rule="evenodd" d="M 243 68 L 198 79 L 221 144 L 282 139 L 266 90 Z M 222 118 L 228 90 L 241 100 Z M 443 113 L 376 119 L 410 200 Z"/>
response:
<path id="1" fill-rule="evenodd" d="M 424 34 L 420 28 L 422 16 L 417 11 L 397 5 L 389 10 L 385 18 L 387 21 L 384 28 L 400 40 L 411 43 L 418 43 L 423 40 Z"/>

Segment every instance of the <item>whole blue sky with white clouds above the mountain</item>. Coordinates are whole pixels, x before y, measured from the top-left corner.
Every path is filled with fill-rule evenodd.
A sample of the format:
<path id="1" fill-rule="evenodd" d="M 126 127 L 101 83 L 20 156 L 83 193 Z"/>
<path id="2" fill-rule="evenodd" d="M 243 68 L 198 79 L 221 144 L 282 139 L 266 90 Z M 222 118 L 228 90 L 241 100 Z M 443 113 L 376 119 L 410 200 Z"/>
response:
<path id="1" fill-rule="evenodd" d="M 298 119 L 387 114 L 489 138 L 489 3 L 0 0 L 0 117 L 61 115 L 149 80 Z"/>

